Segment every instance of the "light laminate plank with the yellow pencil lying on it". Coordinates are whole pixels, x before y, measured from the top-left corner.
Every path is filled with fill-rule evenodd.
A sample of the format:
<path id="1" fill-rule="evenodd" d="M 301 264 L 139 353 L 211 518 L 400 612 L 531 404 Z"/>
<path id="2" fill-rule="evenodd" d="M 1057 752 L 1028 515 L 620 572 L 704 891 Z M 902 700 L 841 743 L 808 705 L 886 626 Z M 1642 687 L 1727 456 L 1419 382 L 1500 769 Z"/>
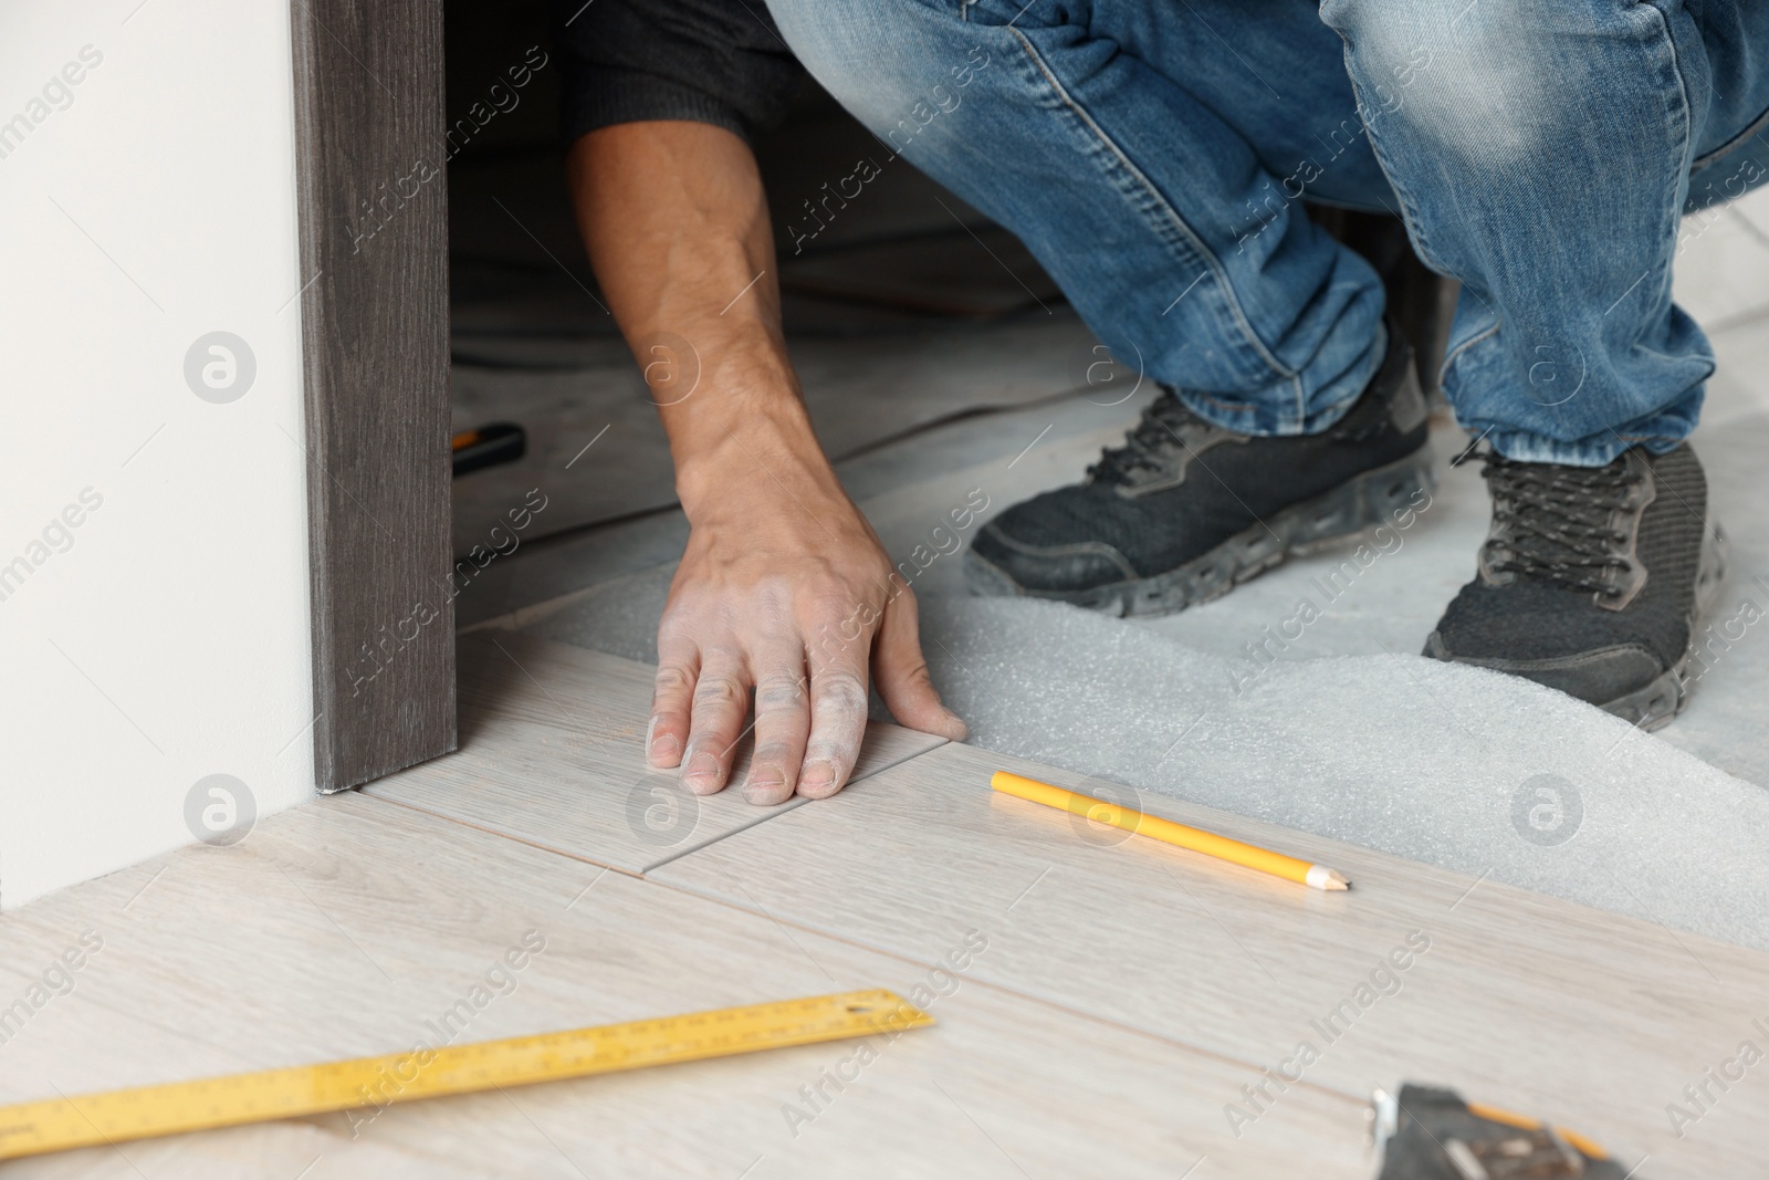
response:
<path id="1" fill-rule="evenodd" d="M 1769 955 L 1141 796 L 1355 881 L 1321 893 L 994 794 L 996 768 L 1113 791 L 948 745 L 653 876 L 900 955 L 987 923 L 978 980 L 1344 1093 L 1452 1084 L 1649 1157 L 1642 1176 L 1764 1159 L 1769 1083 L 1709 1083 L 1707 1109 L 1682 1088 L 1769 1046 Z"/>

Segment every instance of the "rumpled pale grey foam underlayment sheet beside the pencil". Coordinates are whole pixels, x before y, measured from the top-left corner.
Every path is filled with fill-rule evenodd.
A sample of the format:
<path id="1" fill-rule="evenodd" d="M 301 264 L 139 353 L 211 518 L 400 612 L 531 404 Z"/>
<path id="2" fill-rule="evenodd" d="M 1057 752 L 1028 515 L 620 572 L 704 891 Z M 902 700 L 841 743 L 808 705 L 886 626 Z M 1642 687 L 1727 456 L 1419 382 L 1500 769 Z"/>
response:
<path id="1" fill-rule="evenodd" d="M 975 745 L 1769 950 L 1769 791 L 1562 693 L 1412 655 L 1237 693 L 1228 660 L 1028 600 L 922 628 Z"/>

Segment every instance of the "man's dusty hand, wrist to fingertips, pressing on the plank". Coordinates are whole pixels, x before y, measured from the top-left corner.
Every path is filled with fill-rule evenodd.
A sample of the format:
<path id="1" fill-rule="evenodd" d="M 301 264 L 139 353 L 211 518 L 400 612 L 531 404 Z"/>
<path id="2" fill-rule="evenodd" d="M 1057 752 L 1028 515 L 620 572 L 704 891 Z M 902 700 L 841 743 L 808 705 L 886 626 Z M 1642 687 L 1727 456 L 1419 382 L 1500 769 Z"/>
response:
<path id="1" fill-rule="evenodd" d="M 755 690 L 755 757 L 743 796 L 835 794 L 860 755 L 867 669 L 892 715 L 946 738 L 922 658 L 915 594 L 821 455 L 736 433 L 713 460 L 658 630 L 646 747 L 695 794 L 725 785 Z M 692 497 L 692 494 L 685 494 Z"/>

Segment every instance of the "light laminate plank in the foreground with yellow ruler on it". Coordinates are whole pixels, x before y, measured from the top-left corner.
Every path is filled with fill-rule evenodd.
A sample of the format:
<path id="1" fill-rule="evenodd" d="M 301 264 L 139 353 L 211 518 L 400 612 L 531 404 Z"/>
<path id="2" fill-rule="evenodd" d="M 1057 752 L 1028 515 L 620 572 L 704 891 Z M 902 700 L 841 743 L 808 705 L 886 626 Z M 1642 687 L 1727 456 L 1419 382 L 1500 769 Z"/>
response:
<path id="1" fill-rule="evenodd" d="M 88 1148 L 7 1175 L 1366 1175 L 1355 1102 L 1302 1086 L 1237 1138 L 1222 1093 L 1247 1067 L 976 982 L 998 929 L 971 932 L 969 954 L 961 936 L 925 961 L 888 957 L 340 794 L 239 846 L 182 849 L 0 920 L 7 998 L 90 931 L 73 987 L 0 1046 L 0 1102 L 853 987 L 927 989 L 939 1023 Z M 527 954 L 501 968 L 511 948 Z"/>

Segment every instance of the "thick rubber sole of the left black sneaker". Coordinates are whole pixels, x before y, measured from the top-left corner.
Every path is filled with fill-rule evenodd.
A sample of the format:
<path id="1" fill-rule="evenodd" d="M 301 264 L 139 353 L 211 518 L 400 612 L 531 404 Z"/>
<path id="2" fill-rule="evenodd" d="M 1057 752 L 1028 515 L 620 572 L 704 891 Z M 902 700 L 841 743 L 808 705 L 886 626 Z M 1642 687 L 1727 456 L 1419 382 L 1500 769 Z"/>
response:
<path id="1" fill-rule="evenodd" d="M 1373 467 L 1314 499 L 1291 504 L 1185 564 L 1148 579 L 1084 591 L 1028 589 L 976 550 L 966 550 L 964 575 L 975 594 L 1045 598 L 1118 617 L 1175 614 L 1221 598 L 1291 554 L 1339 545 L 1389 524 L 1396 513 L 1419 511 L 1413 499 L 1435 488 L 1429 448 L 1421 446 L 1403 460 Z"/>

